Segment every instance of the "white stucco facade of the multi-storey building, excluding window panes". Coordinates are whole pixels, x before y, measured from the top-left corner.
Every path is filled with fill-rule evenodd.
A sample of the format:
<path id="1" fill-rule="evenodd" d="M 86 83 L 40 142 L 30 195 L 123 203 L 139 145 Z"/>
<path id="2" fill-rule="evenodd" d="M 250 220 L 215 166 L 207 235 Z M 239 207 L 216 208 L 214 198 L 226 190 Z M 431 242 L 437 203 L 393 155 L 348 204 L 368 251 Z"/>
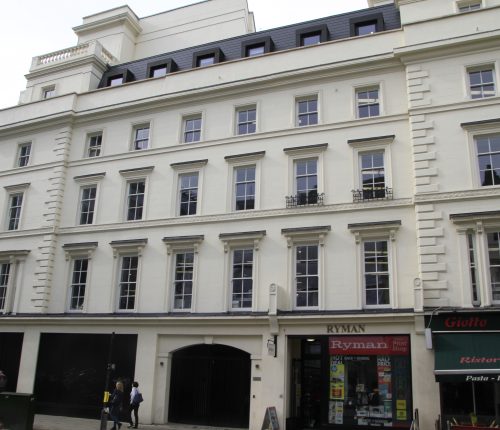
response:
<path id="1" fill-rule="evenodd" d="M 475 142 L 500 135 L 500 1 L 482 0 L 470 12 L 459 11 L 462 3 L 399 0 L 400 29 L 107 88 L 98 89 L 107 65 L 252 33 L 246 1 L 210 0 L 146 18 L 113 9 L 74 29 L 81 52 L 35 57 L 21 104 L 0 111 L 0 263 L 10 264 L 0 331 L 24 333 L 17 390 L 34 389 L 42 333 L 133 334 L 134 376 L 147 399 L 141 420 L 164 423 L 173 354 L 220 344 L 250 356 L 249 428 L 260 428 L 268 406 L 285 426 L 296 339 L 329 336 L 332 324 L 337 333 L 362 325 L 365 335 L 409 337 L 412 406 L 420 428 L 433 429 L 440 394 L 426 311 L 499 305 L 484 234 L 499 231 L 500 183 L 481 183 Z M 492 71 L 491 96 L 471 98 L 474 70 Z M 55 97 L 42 99 L 50 86 Z M 359 118 L 357 94 L 373 88 L 379 115 Z M 308 98 L 317 101 L 318 121 L 300 127 L 297 104 Z M 255 109 L 255 133 L 237 134 L 241 108 Z M 201 118 L 201 137 L 183 143 L 190 118 Z M 133 150 L 141 127 L 149 128 L 147 147 Z M 89 157 L 95 135 L 100 153 Z M 29 142 L 20 167 L 19 148 Z M 363 188 L 360 157 L 372 153 L 382 154 L 391 198 L 353 201 Z M 300 160 L 315 163 L 323 204 L 286 206 L 285 196 L 298 192 Z M 255 169 L 255 208 L 243 211 L 234 191 L 242 166 Z M 193 173 L 196 210 L 181 216 L 180 178 Z M 144 186 L 142 216 L 127 220 L 134 181 Z M 95 189 L 95 206 L 82 225 L 86 187 Z M 9 229 L 19 193 L 18 228 Z M 468 234 L 478 243 L 481 300 L 473 299 Z M 378 307 L 366 301 L 366 240 L 388 247 L 390 290 Z M 319 255 L 317 304 L 301 309 L 294 253 L 310 244 Z M 241 246 L 253 251 L 243 312 L 231 291 L 231 256 Z M 173 292 L 179 250 L 194 258 L 187 312 L 178 312 Z M 72 264 L 82 256 L 83 304 L 72 310 Z M 125 310 L 123 256 L 138 261 L 134 305 Z M 268 351 L 274 336 L 276 357 Z"/>

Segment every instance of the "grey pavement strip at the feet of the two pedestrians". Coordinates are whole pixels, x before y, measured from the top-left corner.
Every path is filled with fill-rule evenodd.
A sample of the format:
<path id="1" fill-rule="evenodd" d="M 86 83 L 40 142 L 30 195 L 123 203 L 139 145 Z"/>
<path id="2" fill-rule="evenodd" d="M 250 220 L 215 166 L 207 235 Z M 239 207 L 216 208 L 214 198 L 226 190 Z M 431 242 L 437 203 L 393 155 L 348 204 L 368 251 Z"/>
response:
<path id="1" fill-rule="evenodd" d="M 33 430 L 99 430 L 99 420 L 85 418 L 60 417 L 55 415 L 35 415 Z M 108 430 L 113 426 L 108 422 Z M 128 423 L 123 423 L 121 430 L 127 430 Z M 204 427 L 183 424 L 140 424 L 143 430 L 229 430 L 221 427 Z M 231 429 L 235 430 L 235 429 Z"/>

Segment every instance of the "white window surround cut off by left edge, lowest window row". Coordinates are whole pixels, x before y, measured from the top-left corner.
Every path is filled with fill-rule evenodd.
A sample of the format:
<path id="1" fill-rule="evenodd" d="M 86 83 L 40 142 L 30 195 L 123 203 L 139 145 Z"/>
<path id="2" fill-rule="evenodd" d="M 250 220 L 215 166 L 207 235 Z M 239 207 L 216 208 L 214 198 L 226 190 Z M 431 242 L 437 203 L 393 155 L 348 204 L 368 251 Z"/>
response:
<path id="1" fill-rule="evenodd" d="M 24 273 L 22 264 L 29 253 L 30 251 L 27 250 L 0 251 L 0 264 L 10 264 L 4 306 L 0 308 L 0 314 L 17 312 L 19 308 Z"/>

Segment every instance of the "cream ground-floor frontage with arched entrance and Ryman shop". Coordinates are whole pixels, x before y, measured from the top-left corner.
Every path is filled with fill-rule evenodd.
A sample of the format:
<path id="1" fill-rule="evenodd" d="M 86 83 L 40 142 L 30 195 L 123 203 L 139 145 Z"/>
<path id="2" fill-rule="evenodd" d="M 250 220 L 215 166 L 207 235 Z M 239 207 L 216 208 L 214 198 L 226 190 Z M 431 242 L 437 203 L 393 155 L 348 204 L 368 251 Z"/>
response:
<path id="1" fill-rule="evenodd" d="M 415 321 L 410 313 L 47 318 L 9 328 L 22 333 L 17 391 L 34 392 L 45 413 L 97 414 L 110 362 L 111 381 L 126 391 L 139 381 L 143 423 L 260 429 L 274 408 L 281 428 L 409 428 L 419 408 L 421 428 L 433 428 L 439 392 Z"/>

